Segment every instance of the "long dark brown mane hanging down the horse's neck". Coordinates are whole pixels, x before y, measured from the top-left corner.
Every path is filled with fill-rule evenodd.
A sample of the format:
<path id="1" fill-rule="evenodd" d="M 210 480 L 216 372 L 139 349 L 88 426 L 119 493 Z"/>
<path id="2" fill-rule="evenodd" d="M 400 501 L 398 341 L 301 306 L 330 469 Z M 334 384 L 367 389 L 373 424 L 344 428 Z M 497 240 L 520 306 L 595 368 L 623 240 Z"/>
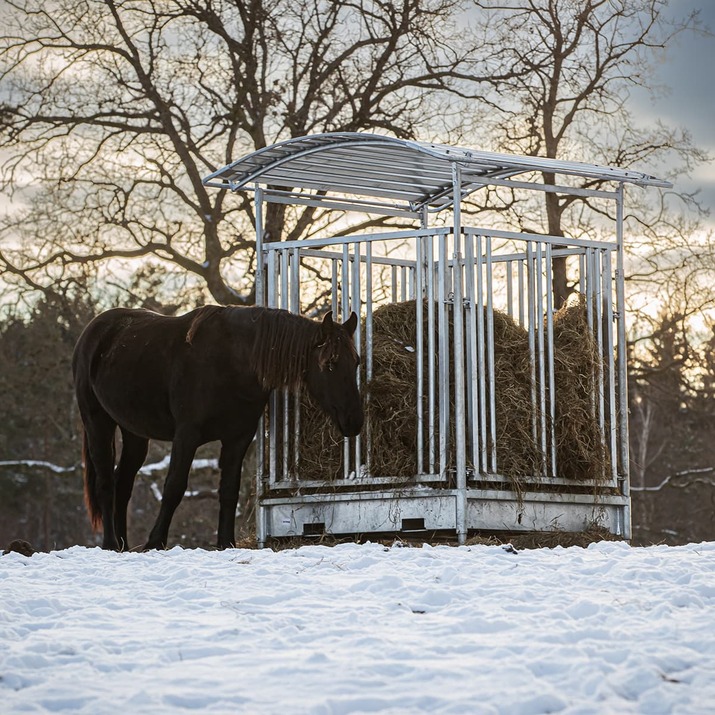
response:
<path id="1" fill-rule="evenodd" d="M 251 367 L 264 389 L 296 390 L 308 369 L 310 351 L 320 340 L 320 324 L 285 310 L 258 310 Z"/>

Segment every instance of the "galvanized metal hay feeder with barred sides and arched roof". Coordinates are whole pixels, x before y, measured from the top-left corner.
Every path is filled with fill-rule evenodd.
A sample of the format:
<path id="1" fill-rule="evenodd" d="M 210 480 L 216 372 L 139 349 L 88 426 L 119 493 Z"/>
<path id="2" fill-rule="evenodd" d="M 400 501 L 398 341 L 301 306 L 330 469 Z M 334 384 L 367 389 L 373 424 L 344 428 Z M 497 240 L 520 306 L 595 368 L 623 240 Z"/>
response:
<path id="1" fill-rule="evenodd" d="M 614 188 L 545 184 L 538 180 L 543 173 Z M 416 355 L 415 474 L 409 483 L 371 474 L 368 431 L 336 446 L 341 478 L 301 478 L 299 400 L 275 394 L 257 435 L 260 545 L 269 537 L 408 531 L 454 533 L 464 543 L 474 531 L 582 531 L 593 524 L 630 538 L 623 187 L 668 182 L 579 162 L 336 133 L 266 147 L 204 183 L 254 192 L 258 304 L 304 312 L 314 298 L 306 276 L 321 273 L 333 311 L 361 315 L 356 343 L 364 345 L 368 383 L 374 310 L 408 300 L 417 306 L 416 345 L 410 346 Z M 464 225 L 462 202 L 487 186 L 615 202 L 613 233 L 591 240 Z M 403 217 L 419 228 L 267 242 L 265 202 Z M 430 226 L 435 215 L 448 215 L 450 225 Z M 607 468 L 601 479 L 578 484 L 560 474 L 557 459 L 551 292 L 557 257 L 568 261 L 578 281 L 603 356 L 590 400 Z M 528 334 L 531 430 L 541 463 L 519 490 L 500 473 L 495 447 L 496 310 Z"/>

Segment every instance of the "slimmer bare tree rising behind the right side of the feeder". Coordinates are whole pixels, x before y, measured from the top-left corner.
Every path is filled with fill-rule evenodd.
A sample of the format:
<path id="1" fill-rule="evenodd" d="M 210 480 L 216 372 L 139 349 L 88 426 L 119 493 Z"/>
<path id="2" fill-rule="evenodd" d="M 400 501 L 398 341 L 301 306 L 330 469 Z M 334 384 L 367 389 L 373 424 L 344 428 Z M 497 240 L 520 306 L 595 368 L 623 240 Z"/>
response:
<path id="1" fill-rule="evenodd" d="M 697 15 L 671 22 L 666 0 L 474 0 L 474 5 L 483 63 L 496 76 L 486 95 L 491 108 L 473 127 L 485 141 L 503 151 L 650 169 L 673 180 L 707 158 L 684 130 L 657 121 L 639 125 L 629 104 L 633 88 L 651 88 L 655 54 L 696 28 Z M 508 81 L 499 79 L 510 70 Z M 557 183 L 548 172 L 541 178 Z M 600 188 L 593 180 L 580 186 Z M 628 217 L 632 233 L 639 237 L 631 244 L 639 256 L 633 279 L 643 274 L 645 280 L 647 273 L 652 282 L 654 271 L 662 279 L 686 256 L 699 260 L 698 252 L 688 249 L 703 215 L 693 196 L 643 196 L 635 190 L 628 204 L 634 209 Z M 557 193 L 544 193 L 538 203 L 505 200 L 501 206 L 524 230 L 577 237 L 597 231 L 608 210 L 593 199 Z M 565 261 L 554 260 L 557 307 L 573 290 Z"/>

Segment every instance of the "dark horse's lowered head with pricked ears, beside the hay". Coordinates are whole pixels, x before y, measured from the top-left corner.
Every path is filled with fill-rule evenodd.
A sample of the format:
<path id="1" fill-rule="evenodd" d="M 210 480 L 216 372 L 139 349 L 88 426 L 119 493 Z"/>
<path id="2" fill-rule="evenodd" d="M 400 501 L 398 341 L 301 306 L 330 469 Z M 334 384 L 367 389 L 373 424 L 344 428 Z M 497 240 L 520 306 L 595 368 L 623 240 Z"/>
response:
<path id="1" fill-rule="evenodd" d="M 362 400 L 357 387 L 360 358 L 353 333 L 357 315 L 342 324 L 333 322 L 329 312 L 320 327 L 320 339 L 311 353 L 306 386 L 313 399 L 333 420 L 345 437 L 354 437 L 362 429 Z"/>

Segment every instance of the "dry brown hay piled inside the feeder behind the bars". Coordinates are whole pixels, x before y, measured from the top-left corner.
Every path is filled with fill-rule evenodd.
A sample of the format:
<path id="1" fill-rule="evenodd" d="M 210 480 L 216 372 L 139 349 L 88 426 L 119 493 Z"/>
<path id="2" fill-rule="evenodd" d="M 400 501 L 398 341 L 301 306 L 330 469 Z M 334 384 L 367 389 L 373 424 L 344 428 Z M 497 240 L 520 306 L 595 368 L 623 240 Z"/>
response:
<path id="1" fill-rule="evenodd" d="M 424 375 L 428 374 L 427 303 L 423 303 Z M 526 481 L 534 481 L 542 470 L 542 454 L 537 438 L 542 415 L 532 404 L 532 370 L 527 331 L 510 316 L 493 311 L 496 455 L 498 472 L 508 477 L 519 491 Z M 365 335 L 363 325 L 362 335 Z M 435 326 L 435 345 L 437 342 Z M 449 317 L 450 337 L 454 325 Z M 396 481 L 417 474 L 417 320 L 415 301 L 390 303 L 373 313 L 373 375 L 366 382 L 365 362 L 361 381 L 365 396 L 361 463 L 369 464 L 370 476 L 394 477 Z M 362 354 L 365 355 L 363 345 Z M 436 359 L 435 359 L 436 368 Z M 598 354 L 593 332 L 586 320 L 583 299 L 558 311 L 554 317 L 554 378 L 556 384 L 555 437 L 558 476 L 574 481 L 601 480 L 607 460 L 594 410 L 598 371 L 603 361 Z M 436 374 L 436 373 L 435 373 Z M 454 376 L 454 365 L 450 366 Z M 428 414 L 425 377 L 423 415 Z M 449 386 L 451 414 L 454 414 L 454 385 Z M 282 398 L 279 398 L 282 404 Z M 290 403 L 292 405 L 292 399 Z M 548 404 L 548 399 L 547 399 Z M 291 408 L 292 409 L 292 408 Z M 279 421 L 280 421 L 279 416 Z M 547 429 L 552 429 L 548 424 Z M 437 432 L 437 429 L 435 429 Z M 454 433 L 454 425 L 450 426 Z M 291 440 L 293 439 L 291 435 Z M 423 443 L 425 461 L 430 449 L 438 463 L 439 435 L 433 445 Z M 365 454 L 366 444 L 371 452 Z M 280 440 L 279 440 L 280 442 Z M 335 480 L 344 476 L 343 439 L 330 420 L 312 404 L 307 394 L 301 397 L 300 460 L 297 474 L 302 480 Z M 452 450 L 454 439 L 450 437 Z M 491 443 L 487 445 L 491 449 Z M 292 448 L 291 448 L 292 451 Z M 279 471 L 282 444 L 278 444 Z M 352 450 L 351 450 L 352 454 Z M 291 460 L 292 453 L 289 453 Z M 454 464 L 454 454 L 449 455 Z M 473 465 L 470 465 L 473 466 Z M 438 464 L 435 471 L 438 470 Z M 348 476 L 359 474 L 360 465 L 350 464 Z M 295 476 L 293 464 L 289 473 Z M 424 465 L 425 472 L 428 464 Z"/>

